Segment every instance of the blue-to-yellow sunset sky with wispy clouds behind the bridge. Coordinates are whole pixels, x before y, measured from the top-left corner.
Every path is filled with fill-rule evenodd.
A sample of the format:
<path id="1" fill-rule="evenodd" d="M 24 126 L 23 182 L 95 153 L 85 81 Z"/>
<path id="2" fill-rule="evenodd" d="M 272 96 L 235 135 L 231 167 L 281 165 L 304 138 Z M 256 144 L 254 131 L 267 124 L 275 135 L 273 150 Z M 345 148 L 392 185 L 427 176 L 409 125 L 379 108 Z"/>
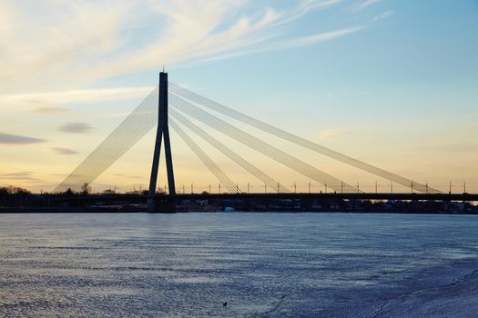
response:
<path id="1" fill-rule="evenodd" d="M 452 183 L 476 193 L 476 30 L 476 0 L 0 0 L 0 185 L 55 189 L 164 65 L 171 82 L 290 133 L 442 191 Z M 363 191 L 390 191 L 386 180 L 263 138 Z M 290 189 L 325 191 L 223 140 Z M 153 143 L 154 131 L 93 189 L 146 188 Z M 263 190 L 201 146 L 242 189 Z M 172 151 L 178 192 L 217 190 L 176 134 Z"/>

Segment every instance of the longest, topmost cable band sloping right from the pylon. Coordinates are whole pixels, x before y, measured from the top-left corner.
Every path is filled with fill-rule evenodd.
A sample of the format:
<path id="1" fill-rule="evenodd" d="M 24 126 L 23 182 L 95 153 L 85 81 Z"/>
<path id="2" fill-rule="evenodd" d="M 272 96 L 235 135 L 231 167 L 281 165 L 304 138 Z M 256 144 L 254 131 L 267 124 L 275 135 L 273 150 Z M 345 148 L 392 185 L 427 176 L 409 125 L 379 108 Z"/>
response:
<path id="1" fill-rule="evenodd" d="M 377 176 L 380 176 L 381 178 L 387 179 L 389 181 L 392 181 L 397 184 L 402 184 L 406 187 L 413 187 L 413 189 L 420 191 L 422 193 L 424 192 L 429 192 L 432 194 L 439 194 L 441 191 L 434 189 L 430 186 L 426 186 L 425 184 L 420 184 L 416 183 L 410 179 L 407 179 L 405 177 L 402 177 L 401 175 L 398 174 L 393 174 L 391 172 L 388 172 L 386 170 L 383 170 L 379 167 L 373 166 L 371 164 L 366 164 L 358 159 L 352 158 L 346 154 L 341 154 L 339 152 L 336 152 L 334 150 L 331 150 L 330 148 L 327 148 L 325 146 L 322 146 L 320 144 L 316 144 L 311 142 L 310 140 L 304 139 L 296 134 L 290 134 L 289 132 L 286 132 L 278 127 L 275 127 L 271 124 L 264 123 L 260 121 L 259 119 L 253 118 L 247 114 L 240 113 L 239 111 L 236 111 L 228 106 L 225 106 L 223 104 L 216 103 L 207 97 L 201 96 L 199 94 L 196 94 L 194 92 L 189 91 L 188 89 L 179 86 L 178 84 L 170 83 L 169 82 L 169 91 L 178 94 L 181 97 L 184 97 L 190 101 L 193 101 L 197 104 L 201 104 L 205 107 L 208 107 L 209 109 L 212 109 L 216 112 L 219 112 L 221 114 L 225 114 L 229 116 L 230 118 L 239 120 L 240 122 L 244 124 L 249 124 L 253 127 L 256 127 L 264 132 L 267 132 L 269 134 L 273 134 L 277 137 L 280 137 L 282 139 L 288 140 L 293 144 L 298 144 L 302 147 L 305 147 L 311 151 L 314 151 L 319 154 L 324 154 L 326 156 L 331 157 L 332 159 L 338 160 L 344 164 L 350 164 L 356 168 L 359 168 L 363 171 L 366 171 L 371 174 L 375 174 Z"/>

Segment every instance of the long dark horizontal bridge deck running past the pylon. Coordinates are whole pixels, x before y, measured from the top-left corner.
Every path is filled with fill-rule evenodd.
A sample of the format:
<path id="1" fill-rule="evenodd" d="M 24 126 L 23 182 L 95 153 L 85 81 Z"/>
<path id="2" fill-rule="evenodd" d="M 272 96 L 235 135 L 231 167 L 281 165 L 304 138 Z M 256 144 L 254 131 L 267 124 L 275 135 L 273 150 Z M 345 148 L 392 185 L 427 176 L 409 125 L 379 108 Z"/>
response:
<path id="1" fill-rule="evenodd" d="M 70 197 L 54 195 L 51 199 L 57 201 L 82 201 L 82 202 L 113 202 L 127 201 L 130 203 L 144 203 L 147 194 L 102 194 L 102 195 L 74 195 Z M 478 194 L 157 194 L 158 200 L 397 200 L 397 201 L 465 201 L 478 202 Z"/>

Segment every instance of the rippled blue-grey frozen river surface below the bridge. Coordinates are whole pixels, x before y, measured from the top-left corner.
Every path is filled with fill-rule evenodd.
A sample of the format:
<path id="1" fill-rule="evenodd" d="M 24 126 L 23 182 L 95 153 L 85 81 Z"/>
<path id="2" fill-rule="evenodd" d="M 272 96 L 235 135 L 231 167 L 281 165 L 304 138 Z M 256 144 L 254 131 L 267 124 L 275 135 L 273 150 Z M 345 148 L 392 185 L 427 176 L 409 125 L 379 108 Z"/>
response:
<path id="1" fill-rule="evenodd" d="M 476 313 L 478 216 L 0 214 L 0 317 Z"/>

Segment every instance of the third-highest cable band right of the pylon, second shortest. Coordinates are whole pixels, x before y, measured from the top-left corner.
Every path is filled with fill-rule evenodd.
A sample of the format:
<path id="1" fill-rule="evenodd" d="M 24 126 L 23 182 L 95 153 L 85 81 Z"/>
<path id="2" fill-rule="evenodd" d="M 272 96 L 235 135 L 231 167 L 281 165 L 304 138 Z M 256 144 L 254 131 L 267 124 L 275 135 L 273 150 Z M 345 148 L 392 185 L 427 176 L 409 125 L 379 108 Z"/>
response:
<path id="1" fill-rule="evenodd" d="M 185 126 L 187 126 L 190 131 L 194 132 L 195 134 L 198 134 L 198 136 L 201 137 L 206 142 L 208 142 L 208 144 L 211 144 L 212 146 L 214 146 L 222 154 L 227 155 L 229 159 L 234 161 L 236 164 L 239 164 L 242 168 L 247 170 L 249 174 L 254 175 L 264 184 L 269 185 L 270 188 L 275 189 L 278 193 L 290 193 L 289 189 L 279 184 L 277 181 L 272 179 L 269 175 L 264 174 L 255 165 L 250 164 L 249 161 L 241 157 L 239 154 L 236 154 L 234 151 L 230 150 L 229 147 L 227 147 L 225 144 L 220 143 L 219 140 L 217 140 L 216 138 L 212 137 L 210 134 L 205 132 L 197 124 L 192 123 L 190 120 L 188 120 L 188 118 L 186 118 L 182 114 L 179 114 L 176 110 L 170 108 L 169 116 L 172 116 L 173 118 L 178 120 L 181 124 L 184 124 Z M 278 189 L 278 184 L 279 184 L 279 189 Z"/>

